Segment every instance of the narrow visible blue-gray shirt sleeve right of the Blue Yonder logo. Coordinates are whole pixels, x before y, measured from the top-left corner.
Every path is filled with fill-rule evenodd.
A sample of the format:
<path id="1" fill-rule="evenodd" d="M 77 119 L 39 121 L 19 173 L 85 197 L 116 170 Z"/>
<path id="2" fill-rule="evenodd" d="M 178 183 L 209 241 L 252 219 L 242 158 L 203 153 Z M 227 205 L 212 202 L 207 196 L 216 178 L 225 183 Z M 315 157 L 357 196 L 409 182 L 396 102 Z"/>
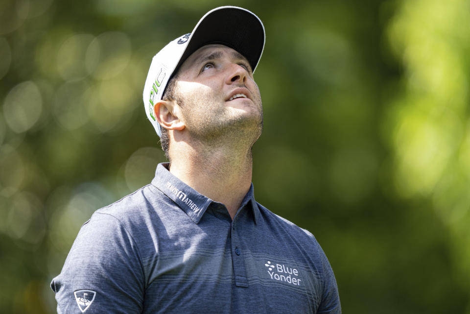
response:
<path id="1" fill-rule="evenodd" d="M 341 314 L 338 286 L 325 252 L 320 248 L 323 267 L 323 295 L 317 313 Z"/>

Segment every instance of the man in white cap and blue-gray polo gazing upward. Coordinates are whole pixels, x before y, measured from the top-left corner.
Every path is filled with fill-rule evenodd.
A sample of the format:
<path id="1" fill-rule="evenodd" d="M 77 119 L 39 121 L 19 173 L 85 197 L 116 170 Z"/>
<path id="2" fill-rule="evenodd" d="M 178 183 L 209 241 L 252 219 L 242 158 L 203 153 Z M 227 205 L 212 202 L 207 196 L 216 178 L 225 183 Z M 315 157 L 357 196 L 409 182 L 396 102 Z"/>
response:
<path id="1" fill-rule="evenodd" d="M 82 226 L 59 313 L 341 313 L 315 238 L 254 198 L 263 47 L 256 15 L 220 7 L 153 58 L 143 100 L 170 163 Z"/>

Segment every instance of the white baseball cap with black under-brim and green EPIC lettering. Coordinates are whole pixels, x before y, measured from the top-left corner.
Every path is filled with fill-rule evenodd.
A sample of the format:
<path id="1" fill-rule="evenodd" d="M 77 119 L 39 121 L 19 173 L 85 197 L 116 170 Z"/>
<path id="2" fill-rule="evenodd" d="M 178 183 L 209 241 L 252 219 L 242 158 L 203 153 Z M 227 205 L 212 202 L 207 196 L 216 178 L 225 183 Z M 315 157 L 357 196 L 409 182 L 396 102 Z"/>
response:
<path id="1" fill-rule="evenodd" d="M 248 60 L 254 72 L 264 41 L 264 26 L 254 13 L 236 6 L 221 6 L 207 12 L 191 33 L 160 50 L 152 59 L 143 89 L 145 112 L 158 136 L 162 136 L 162 130 L 154 117 L 153 106 L 162 99 L 173 73 L 194 51 L 209 44 L 233 48 Z"/>

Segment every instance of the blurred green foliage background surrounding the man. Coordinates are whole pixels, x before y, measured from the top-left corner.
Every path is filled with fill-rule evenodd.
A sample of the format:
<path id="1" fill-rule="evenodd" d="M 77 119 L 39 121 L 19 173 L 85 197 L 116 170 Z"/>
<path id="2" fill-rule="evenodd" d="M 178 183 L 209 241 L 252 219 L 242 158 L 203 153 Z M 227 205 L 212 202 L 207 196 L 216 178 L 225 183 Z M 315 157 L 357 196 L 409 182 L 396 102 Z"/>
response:
<path id="1" fill-rule="evenodd" d="M 317 237 L 344 313 L 469 314 L 468 0 L 1 0 L 0 313 L 54 313 L 81 224 L 150 182 L 151 58 L 225 4 L 266 28 L 257 199 Z"/>

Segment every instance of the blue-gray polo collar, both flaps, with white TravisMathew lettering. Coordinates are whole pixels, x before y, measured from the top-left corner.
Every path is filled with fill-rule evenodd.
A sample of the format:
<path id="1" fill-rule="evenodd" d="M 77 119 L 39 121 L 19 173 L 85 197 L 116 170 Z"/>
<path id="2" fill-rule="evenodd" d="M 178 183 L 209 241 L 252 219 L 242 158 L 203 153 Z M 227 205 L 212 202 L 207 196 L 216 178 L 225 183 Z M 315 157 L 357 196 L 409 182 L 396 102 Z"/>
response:
<path id="1" fill-rule="evenodd" d="M 168 171 L 168 165 L 168 163 L 158 164 L 152 185 L 172 199 L 192 221 L 199 223 L 201 217 L 213 201 L 174 176 Z M 243 198 L 240 208 L 251 202 L 250 207 L 253 210 L 253 217 L 255 217 L 256 223 L 259 217 L 259 209 L 253 191 L 253 184 L 251 184 L 250 190 Z"/>

